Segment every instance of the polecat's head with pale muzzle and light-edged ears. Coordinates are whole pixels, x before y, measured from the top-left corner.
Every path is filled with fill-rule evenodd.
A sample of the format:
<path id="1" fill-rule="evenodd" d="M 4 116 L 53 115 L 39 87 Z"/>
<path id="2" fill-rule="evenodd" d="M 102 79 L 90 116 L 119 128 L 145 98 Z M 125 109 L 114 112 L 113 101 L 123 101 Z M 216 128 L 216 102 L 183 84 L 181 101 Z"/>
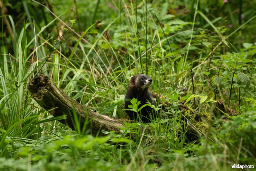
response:
<path id="1" fill-rule="evenodd" d="M 129 84 L 135 86 L 136 88 L 141 88 L 142 90 L 150 87 L 152 84 L 152 78 L 149 78 L 145 74 L 137 74 L 130 77 Z"/>

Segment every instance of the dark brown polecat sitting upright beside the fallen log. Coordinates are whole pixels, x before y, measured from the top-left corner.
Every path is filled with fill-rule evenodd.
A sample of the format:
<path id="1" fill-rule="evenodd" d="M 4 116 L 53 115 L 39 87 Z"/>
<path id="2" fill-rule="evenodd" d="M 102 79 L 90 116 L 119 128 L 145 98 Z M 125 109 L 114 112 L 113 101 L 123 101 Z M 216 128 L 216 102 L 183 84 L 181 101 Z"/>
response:
<path id="1" fill-rule="evenodd" d="M 152 100 L 151 93 L 148 92 L 148 87 L 150 87 L 151 84 L 152 79 L 145 74 L 132 76 L 129 80 L 127 93 L 125 95 L 125 109 L 128 109 L 128 106 L 131 105 L 130 100 L 132 100 L 132 98 L 138 99 L 138 101 L 140 101 L 138 109 L 148 101 L 152 105 L 156 106 L 156 102 Z M 139 120 L 136 112 L 126 110 L 126 113 L 129 115 L 130 119 Z M 143 122 L 150 122 L 150 115 L 152 118 L 156 117 L 152 114 L 155 115 L 155 111 L 150 106 L 145 106 L 139 111 L 139 117 Z"/>

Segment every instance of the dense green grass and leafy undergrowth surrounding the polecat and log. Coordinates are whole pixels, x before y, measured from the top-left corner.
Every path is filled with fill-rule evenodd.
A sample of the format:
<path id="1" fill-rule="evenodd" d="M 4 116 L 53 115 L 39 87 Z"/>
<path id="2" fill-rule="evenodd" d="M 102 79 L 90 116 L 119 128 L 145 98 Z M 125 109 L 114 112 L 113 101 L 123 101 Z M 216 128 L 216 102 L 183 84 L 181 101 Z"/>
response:
<path id="1" fill-rule="evenodd" d="M 0 168 L 256 166 L 255 4 L 2 1 Z M 150 90 L 172 106 L 156 122 L 126 123 L 122 135 L 77 133 L 57 121 L 65 116 L 52 117 L 30 97 L 26 85 L 38 72 L 85 107 L 116 118 L 125 116 L 129 78 L 139 73 L 153 78 Z M 178 108 L 184 86 L 192 116 Z M 191 123 L 196 118 L 203 126 Z"/>

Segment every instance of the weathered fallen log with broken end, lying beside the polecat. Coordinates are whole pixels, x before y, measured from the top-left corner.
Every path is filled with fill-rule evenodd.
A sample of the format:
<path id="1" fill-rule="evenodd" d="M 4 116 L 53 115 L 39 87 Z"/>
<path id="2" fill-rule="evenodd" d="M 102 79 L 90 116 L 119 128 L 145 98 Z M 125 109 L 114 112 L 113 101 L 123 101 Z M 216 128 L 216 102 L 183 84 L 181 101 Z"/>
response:
<path id="1" fill-rule="evenodd" d="M 45 110 L 53 116 L 67 115 L 66 119 L 59 120 L 59 122 L 68 125 L 71 129 L 76 130 L 74 112 L 79 118 L 80 130 L 83 130 L 84 124 L 87 133 L 92 135 L 103 135 L 101 130 L 115 131 L 116 134 L 121 134 L 120 127 L 124 127 L 124 121 L 132 123 L 132 120 L 116 119 L 108 115 L 100 115 L 99 113 L 85 108 L 76 100 L 71 99 L 68 95 L 63 93 L 53 82 L 53 80 L 45 75 L 40 75 L 32 79 L 28 83 L 28 90 L 33 99 Z M 152 93 L 154 98 L 157 98 L 156 93 Z M 164 98 L 160 95 L 160 98 Z M 162 102 L 160 101 L 160 104 Z M 164 101 L 162 104 L 170 105 L 171 103 Z M 184 105 L 179 105 L 180 110 L 189 115 L 193 115 L 193 110 Z M 89 123 L 89 124 L 88 124 Z"/>

